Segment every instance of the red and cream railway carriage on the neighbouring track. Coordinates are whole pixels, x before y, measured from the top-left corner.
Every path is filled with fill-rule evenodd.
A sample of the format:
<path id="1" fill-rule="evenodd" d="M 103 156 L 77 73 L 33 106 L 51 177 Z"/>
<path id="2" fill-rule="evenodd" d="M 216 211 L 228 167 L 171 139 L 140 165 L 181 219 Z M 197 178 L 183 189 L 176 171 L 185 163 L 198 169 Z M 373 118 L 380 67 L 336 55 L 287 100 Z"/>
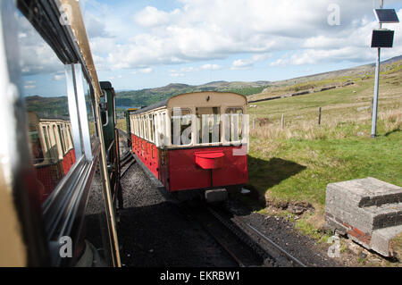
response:
<path id="1" fill-rule="evenodd" d="M 197 92 L 130 113 L 132 152 L 169 192 L 247 183 L 247 98 Z"/>

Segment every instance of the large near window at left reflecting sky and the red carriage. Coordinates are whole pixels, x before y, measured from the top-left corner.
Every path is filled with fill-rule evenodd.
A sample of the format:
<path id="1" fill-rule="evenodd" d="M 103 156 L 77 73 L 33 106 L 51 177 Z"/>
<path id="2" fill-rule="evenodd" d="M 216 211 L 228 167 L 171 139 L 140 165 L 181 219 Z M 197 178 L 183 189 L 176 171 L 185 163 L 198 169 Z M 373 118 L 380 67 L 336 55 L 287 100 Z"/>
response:
<path id="1" fill-rule="evenodd" d="M 27 109 L 31 163 L 44 203 L 75 163 L 64 126 L 71 126 L 65 67 L 29 21 L 18 13 L 21 93 Z"/>

